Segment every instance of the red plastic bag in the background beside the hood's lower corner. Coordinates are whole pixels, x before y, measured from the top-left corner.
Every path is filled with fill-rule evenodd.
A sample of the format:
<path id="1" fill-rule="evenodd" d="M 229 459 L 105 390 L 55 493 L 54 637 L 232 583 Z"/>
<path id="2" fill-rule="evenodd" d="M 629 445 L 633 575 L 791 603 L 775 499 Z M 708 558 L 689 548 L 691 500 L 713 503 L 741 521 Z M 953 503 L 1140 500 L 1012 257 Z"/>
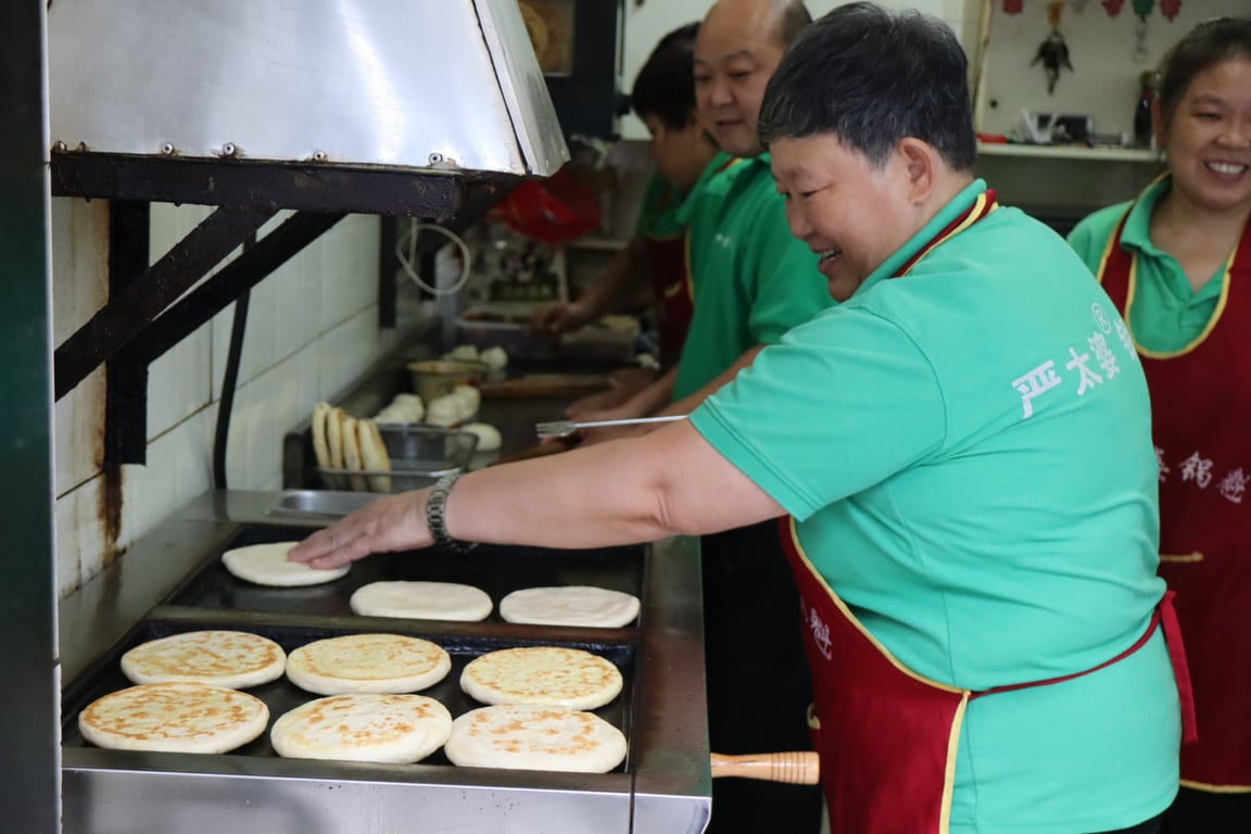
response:
<path id="1" fill-rule="evenodd" d="M 545 180 L 525 180 L 500 200 L 492 218 L 547 244 L 580 238 L 599 226 L 599 198 L 562 168 Z"/>

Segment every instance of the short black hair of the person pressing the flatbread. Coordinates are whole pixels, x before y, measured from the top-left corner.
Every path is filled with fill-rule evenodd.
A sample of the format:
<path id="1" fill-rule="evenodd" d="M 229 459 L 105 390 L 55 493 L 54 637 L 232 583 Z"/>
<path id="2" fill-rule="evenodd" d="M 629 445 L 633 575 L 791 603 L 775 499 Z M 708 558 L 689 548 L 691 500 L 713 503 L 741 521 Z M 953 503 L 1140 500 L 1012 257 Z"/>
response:
<path id="1" fill-rule="evenodd" d="M 761 141 L 836 134 L 874 166 L 906 136 L 955 170 L 977 161 L 968 59 L 947 24 L 873 3 L 839 6 L 806 28 L 769 79 Z"/>

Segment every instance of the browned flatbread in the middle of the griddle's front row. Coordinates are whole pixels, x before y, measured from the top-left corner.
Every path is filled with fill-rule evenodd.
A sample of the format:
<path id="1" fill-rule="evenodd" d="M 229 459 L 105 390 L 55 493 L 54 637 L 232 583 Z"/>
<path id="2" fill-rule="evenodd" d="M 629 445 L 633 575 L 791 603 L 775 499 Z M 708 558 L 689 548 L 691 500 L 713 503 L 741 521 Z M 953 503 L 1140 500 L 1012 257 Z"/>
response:
<path id="1" fill-rule="evenodd" d="M 448 740 L 452 714 L 425 695 L 319 698 L 279 716 L 269 731 L 278 755 L 409 764 Z"/>

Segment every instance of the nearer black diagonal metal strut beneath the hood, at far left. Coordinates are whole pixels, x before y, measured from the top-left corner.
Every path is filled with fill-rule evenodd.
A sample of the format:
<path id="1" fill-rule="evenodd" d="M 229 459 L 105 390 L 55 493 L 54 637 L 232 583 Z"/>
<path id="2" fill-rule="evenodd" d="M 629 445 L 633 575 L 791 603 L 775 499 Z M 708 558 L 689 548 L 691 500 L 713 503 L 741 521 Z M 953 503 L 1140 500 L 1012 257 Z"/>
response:
<path id="1" fill-rule="evenodd" d="M 161 310 L 261 226 L 273 211 L 223 206 L 56 349 L 56 399 L 108 361 Z"/>

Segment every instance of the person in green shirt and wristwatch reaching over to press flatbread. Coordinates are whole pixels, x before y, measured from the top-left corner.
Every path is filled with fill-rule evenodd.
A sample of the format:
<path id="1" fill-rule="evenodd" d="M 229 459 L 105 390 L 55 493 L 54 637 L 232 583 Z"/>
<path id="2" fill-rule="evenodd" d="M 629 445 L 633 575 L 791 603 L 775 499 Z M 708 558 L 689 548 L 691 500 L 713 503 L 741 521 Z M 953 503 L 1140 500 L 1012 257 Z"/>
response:
<path id="1" fill-rule="evenodd" d="M 812 24 L 759 129 L 842 303 L 687 421 L 382 498 L 291 558 L 783 519 L 832 830 L 1156 831 L 1182 716 L 1146 379 L 1081 260 L 973 178 L 966 78 L 932 18 Z"/>

